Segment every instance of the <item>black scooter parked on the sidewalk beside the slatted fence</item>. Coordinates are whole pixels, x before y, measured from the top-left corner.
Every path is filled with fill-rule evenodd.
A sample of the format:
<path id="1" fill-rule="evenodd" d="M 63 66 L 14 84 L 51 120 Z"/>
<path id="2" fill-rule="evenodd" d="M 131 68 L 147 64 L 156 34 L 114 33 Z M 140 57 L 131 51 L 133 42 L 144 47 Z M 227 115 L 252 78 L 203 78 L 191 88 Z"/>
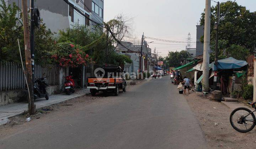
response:
<path id="1" fill-rule="evenodd" d="M 34 100 L 38 99 L 38 98 L 46 98 L 46 100 L 49 99 L 48 93 L 46 91 L 46 88 L 48 86 L 48 84 L 45 81 L 46 78 L 39 78 L 36 79 L 36 81 L 34 82 Z M 36 85 L 37 83 L 37 85 Z M 26 85 L 26 93 L 28 93 L 27 91 L 27 85 Z"/>

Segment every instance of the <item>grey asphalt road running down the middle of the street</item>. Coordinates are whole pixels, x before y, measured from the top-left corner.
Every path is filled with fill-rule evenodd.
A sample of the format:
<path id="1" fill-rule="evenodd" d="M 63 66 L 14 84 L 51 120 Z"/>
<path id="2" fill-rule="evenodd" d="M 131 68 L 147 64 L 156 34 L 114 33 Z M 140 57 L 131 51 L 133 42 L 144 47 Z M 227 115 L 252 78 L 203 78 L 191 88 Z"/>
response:
<path id="1" fill-rule="evenodd" d="M 196 116 L 169 77 L 119 96 L 47 115 L 1 134 L 0 148 L 208 148 Z"/>

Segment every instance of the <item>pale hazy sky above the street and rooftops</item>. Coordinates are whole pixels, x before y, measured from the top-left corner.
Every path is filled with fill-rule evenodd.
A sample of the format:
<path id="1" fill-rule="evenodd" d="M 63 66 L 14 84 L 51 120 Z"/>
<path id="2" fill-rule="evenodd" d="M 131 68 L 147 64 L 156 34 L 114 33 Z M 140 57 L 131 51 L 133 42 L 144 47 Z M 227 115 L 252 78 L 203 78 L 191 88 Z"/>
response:
<path id="1" fill-rule="evenodd" d="M 215 0 L 216 1 L 216 0 Z M 223 2 L 226 0 L 220 0 Z M 256 11 L 256 0 L 236 0 L 239 5 Z M 134 17 L 134 36 L 141 39 L 145 36 L 186 41 L 190 32 L 191 42 L 196 41 L 196 24 L 205 8 L 205 0 L 105 0 L 104 20 L 114 18 L 119 13 Z M 211 2 L 211 5 L 216 5 Z M 154 40 L 146 39 L 147 42 Z M 164 45 L 164 44 L 172 45 Z M 159 55 L 166 56 L 168 51 L 185 49 L 185 44 L 154 41 L 150 48 L 156 48 Z M 191 48 L 196 48 L 194 43 Z"/>

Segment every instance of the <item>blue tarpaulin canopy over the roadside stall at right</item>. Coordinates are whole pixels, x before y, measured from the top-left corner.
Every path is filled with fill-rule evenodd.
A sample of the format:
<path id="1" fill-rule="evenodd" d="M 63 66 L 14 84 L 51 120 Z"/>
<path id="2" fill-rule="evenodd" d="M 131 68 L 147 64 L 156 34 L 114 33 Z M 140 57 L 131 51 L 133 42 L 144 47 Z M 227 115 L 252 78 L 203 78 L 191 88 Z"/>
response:
<path id="1" fill-rule="evenodd" d="M 236 69 L 246 66 L 248 63 L 246 61 L 236 60 L 233 57 L 226 59 L 218 60 L 218 66 L 215 65 L 215 62 L 210 64 L 210 68 L 213 71 L 224 70 L 224 69 Z"/>

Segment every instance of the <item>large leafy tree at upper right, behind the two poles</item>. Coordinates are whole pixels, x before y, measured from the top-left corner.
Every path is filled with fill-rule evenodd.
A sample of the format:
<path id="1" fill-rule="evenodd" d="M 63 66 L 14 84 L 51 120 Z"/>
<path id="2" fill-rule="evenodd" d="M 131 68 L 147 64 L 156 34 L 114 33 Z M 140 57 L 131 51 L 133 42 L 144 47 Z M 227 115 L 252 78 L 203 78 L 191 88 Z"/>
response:
<path id="1" fill-rule="evenodd" d="M 204 25 L 204 14 L 201 14 L 200 24 Z M 211 49 L 215 49 L 215 33 L 213 29 L 217 22 L 217 6 L 211 8 Z M 233 1 L 226 1 L 220 4 L 219 40 L 226 41 L 226 48 L 235 48 L 232 53 L 239 53 L 240 48 L 249 49 L 250 53 L 256 48 L 256 12 L 250 12 L 246 7 L 238 5 Z M 202 39 L 202 38 L 201 38 Z M 220 48 L 221 50 L 224 50 Z M 246 50 L 242 49 L 242 51 Z M 231 53 L 231 51 L 230 51 Z M 220 53 L 221 54 L 221 53 Z M 239 57 L 240 58 L 240 57 Z M 244 59 L 244 57 L 241 57 Z"/>

